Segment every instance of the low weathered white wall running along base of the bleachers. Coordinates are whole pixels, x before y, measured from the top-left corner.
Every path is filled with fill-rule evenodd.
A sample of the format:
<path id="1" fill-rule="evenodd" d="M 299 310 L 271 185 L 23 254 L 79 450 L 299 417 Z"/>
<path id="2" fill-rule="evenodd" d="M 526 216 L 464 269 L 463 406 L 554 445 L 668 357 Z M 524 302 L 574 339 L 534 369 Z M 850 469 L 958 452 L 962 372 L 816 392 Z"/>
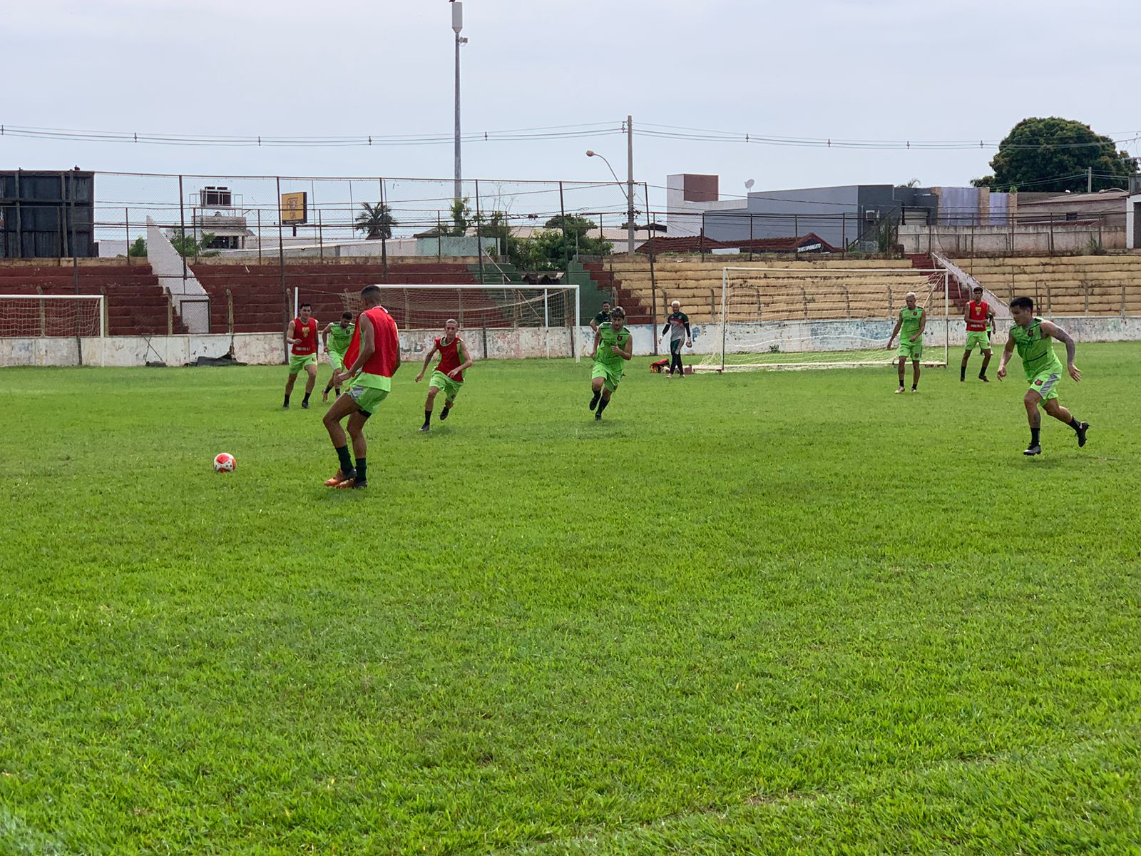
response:
<path id="1" fill-rule="evenodd" d="M 1141 317 L 1082 316 L 1054 317 L 1068 330 L 1078 342 L 1089 341 L 1141 341 Z M 1000 318 L 998 337 L 995 348 L 1005 344 L 1009 321 Z M 772 336 L 778 332 L 783 350 L 823 349 L 836 337 L 859 336 L 868 339 L 882 339 L 884 342 L 891 334 L 895 320 L 868 321 L 787 321 L 766 325 L 764 332 Z M 634 339 L 634 355 L 648 356 L 654 353 L 654 340 L 661 333 L 658 328 L 649 324 L 634 324 L 630 328 Z M 753 324 L 734 324 L 728 334 L 729 350 L 736 342 L 756 341 L 760 330 Z M 966 326 L 962 318 L 953 320 L 946 328 L 952 348 L 962 347 L 966 340 Z M 720 345 L 721 328 L 718 324 L 695 324 L 694 347 L 687 354 L 711 354 Z M 581 341 L 589 350 L 593 342 L 593 331 L 582 328 Z M 400 331 L 400 352 L 410 364 L 423 360 L 423 354 L 430 347 L 431 339 L 439 334 L 438 330 L 404 330 Z M 464 340 L 471 346 L 477 360 L 524 360 L 535 357 L 570 356 L 570 331 L 566 328 L 523 328 L 519 330 L 497 330 L 476 328 L 464 331 Z M 928 347 L 942 347 L 944 322 L 932 321 L 928 328 Z M 99 339 L 82 339 L 84 365 L 99 365 L 103 362 Z M 115 336 L 106 340 L 106 365 L 137 366 L 145 365 L 149 360 L 162 361 L 167 365 L 185 365 L 195 362 L 200 356 L 219 357 L 230 347 L 227 334 L 202 336 Z M 252 365 L 282 365 L 285 349 L 281 333 L 237 333 L 233 337 L 234 357 L 242 363 Z M 78 365 L 79 348 L 76 339 L 17 339 L 0 338 L 0 366 L 14 365 Z M 659 354 L 669 354 L 666 344 L 658 345 Z"/>

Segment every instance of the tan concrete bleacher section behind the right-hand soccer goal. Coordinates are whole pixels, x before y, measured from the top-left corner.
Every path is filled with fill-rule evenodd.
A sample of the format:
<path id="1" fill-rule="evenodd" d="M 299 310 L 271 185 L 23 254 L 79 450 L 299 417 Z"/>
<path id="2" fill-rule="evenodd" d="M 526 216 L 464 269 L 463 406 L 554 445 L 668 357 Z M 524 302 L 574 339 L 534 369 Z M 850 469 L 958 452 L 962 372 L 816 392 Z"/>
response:
<path id="1" fill-rule="evenodd" d="M 680 300 L 690 322 L 710 323 L 720 315 L 721 270 L 727 266 L 748 268 L 730 272 L 730 321 L 884 318 L 904 305 L 908 291 L 922 294 L 931 289 L 925 285 L 923 274 L 907 275 L 914 269 L 911 259 L 750 263 L 727 258 L 722 264 L 663 259 L 655 265 L 653 277 L 649 265 L 642 259 L 614 259 L 592 267 L 613 276 L 618 300 L 630 314 L 649 318 L 656 283 L 659 318 L 669 314 L 670 301 Z M 793 268 L 798 273 L 783 273 L 779 268 Z M 877 272 L 884 268 L 892 273 Z M 600 282 L 594 269 L 591 274 Z M 939 299 L 929 300 L 928 308 L 932 315 L 941 316 L 941 283 L 933 288 Z M 953 306 L 952 314 L 957 312 Z"/>

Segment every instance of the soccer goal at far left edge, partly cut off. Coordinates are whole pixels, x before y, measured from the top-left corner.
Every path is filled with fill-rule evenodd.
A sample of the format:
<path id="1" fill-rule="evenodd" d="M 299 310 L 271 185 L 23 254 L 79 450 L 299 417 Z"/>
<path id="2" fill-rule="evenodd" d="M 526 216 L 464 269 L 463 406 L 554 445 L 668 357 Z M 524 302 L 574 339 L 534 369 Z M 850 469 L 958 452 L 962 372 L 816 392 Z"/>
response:
<path id="1" fill-rule="evenodd" d="M 83 339 L 99 340 L 99 364 L 106 364 L 107 320 L 103 294 L 0 294 L 0 337 L 31 339 L 31 348 L 13 348 L 13 364 L 59 365 L 51 341 L 74 339 L 83 364 Z"/>

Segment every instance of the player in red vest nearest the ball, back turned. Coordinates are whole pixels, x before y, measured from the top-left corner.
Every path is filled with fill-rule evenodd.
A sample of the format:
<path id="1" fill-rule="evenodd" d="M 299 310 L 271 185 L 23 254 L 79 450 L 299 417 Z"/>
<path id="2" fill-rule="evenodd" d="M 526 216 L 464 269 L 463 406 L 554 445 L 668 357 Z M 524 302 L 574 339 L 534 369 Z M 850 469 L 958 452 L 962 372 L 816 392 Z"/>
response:
<path id="1" fill-rule="evenodd" d="M 400 336 L 396 322 L 380 305 L 380 288 L 365 285 L 361 290 L 364 312 L 357 315 L 353 341 L 345 353 L 347 369 L 333 373 L 333 382 L 351 379 L 345 395 L 338 396 L 325 412 L 325 430 L 337 450 L 340 468 L 337 475 L 325 482 L 326 487 L 367 487 L 369 470 L 365 460 L 367 444 L 364 439 L 364 423 L 393 388 L 393 375 L 400 368 Z M 353 438 L 353 455 L 349 458 L 348 442 L 341 420 L 349 418 L 349 436 Z"/>

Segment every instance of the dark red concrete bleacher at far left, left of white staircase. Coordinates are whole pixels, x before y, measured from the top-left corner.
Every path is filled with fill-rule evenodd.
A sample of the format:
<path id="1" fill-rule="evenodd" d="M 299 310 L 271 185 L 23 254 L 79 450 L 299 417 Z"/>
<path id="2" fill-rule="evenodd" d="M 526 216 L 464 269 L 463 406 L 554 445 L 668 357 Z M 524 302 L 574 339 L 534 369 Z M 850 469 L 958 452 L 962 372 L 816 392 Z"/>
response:
<path id="1" fill-rule="evenodd" d="M 67 260 L 64 260 L 67 263 Z M 78 288 L 76 288 L 78 270 Z M 103 294 L 107 336 L 163 336 L 186 332 L 169 314 L 170 300 L 145 261 L 65 265 L 0 264 L 0 294 Z M 50 313 L 46 313 L 50 315 Z M 66 334 L 50 329 L 47 333 Z M 0 336 L 11 331 L 0 331 Z"/>

